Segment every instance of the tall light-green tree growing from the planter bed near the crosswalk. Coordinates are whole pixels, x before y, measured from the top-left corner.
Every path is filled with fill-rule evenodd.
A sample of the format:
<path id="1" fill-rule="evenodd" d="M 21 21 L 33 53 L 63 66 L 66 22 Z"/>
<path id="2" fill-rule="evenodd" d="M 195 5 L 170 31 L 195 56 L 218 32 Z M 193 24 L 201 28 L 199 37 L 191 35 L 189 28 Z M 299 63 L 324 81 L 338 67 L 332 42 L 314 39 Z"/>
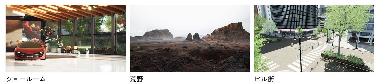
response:
<path id="1" fill-rule="evenodd" d="M 326 6 L 326 28 L 331 28 L 339 32 L 338 53 L 340 55 L 340 41 L 342 37 L 346 37 L 346 31 L 364 30 L 365 24 L 369 21 L 368 18 L 374 17 L 369 13 L 369 8 L 372 5 L 328 5 Z"/>

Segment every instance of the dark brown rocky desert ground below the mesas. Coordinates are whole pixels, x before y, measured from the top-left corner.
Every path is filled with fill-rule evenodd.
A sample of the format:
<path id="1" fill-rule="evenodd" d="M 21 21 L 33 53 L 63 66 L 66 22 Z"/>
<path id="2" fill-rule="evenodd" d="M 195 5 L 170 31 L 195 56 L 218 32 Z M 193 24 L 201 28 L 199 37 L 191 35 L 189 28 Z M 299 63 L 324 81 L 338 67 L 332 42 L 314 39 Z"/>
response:
<path id="1" fill-rule="evenodd" d="M 150 44 L 150 43 L 146 43 Z M 216 46 L 205 43 L 161 43 L 163 46 L 131 51 L 131 72 L 249 72 L 249 45 Z M 248 43 L 249 44 L 249 43 Z M 131 44 L 143 46 L 144 44 Z M 154 44 L 157 45 L 157 44 Z M 225 44 L 227 45 L 227 44 Z M 197 47 L 200 46 L 200 47 Z M 243 44 L 239 46 L 244 46 Z M 154 48 L 154 49 L 153 49 Z M 132 50 L 132 49 L 131 49 Z"/>

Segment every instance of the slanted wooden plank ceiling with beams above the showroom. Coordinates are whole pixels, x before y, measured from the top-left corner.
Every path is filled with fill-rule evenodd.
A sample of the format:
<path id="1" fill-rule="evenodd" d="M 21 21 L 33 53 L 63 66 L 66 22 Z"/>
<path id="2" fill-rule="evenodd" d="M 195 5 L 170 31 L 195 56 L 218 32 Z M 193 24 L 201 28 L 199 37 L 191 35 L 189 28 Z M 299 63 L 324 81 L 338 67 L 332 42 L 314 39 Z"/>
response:
<path id="1" fill-rule="evenodd" d="M 111 13 L 122 14 L 126 5 L 93 5 L 92 10 L 88 10 L 89 5 L 6 5 L 6 8 L 38 17 L 46 21 L 68 20 L 91 16 L 110 16 Z"/>

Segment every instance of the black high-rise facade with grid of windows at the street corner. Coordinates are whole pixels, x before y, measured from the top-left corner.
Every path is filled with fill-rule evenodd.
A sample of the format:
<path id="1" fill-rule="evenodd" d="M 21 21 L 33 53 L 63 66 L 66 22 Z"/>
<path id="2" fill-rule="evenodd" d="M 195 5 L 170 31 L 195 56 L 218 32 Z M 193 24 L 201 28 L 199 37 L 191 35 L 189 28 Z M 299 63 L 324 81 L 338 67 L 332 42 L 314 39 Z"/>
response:
<path id="1" fill-rule="evenodd" d="M 271 17 L 284 34 L 296 32 L 298 26 L 304 32 L 312 32 L 318 25 L 317 16 L 318 5 L 271 5 Z"/>

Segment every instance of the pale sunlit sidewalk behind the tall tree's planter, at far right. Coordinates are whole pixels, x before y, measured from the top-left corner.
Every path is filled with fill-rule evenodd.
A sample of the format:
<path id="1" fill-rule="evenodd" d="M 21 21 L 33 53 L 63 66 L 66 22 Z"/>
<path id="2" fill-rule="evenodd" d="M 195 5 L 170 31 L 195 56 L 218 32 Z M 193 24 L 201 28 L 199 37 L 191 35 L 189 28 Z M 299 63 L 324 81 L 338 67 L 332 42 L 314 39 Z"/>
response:
<path id="1" fill-rule="evenodd" d="M 338 36 L 334 37 L 334 46 L 335 47 L 339 46 L 338 41 L 339 41 Z M 358 44 L 358 49 L 355 49 L 356 43 L 348 43 L 346 41 L 347 41 L 347 38 L 342 37 L 342 40 L 340 41 L 340 48 L 347 48 L 347 49 L 354 49 L 354 50 L 359 50 L 359 51 L 366 51 L 366 52 L 375 53 L 375 46 L 370 46 L 370 45 L 366 45 L 366 44 Z"/>

